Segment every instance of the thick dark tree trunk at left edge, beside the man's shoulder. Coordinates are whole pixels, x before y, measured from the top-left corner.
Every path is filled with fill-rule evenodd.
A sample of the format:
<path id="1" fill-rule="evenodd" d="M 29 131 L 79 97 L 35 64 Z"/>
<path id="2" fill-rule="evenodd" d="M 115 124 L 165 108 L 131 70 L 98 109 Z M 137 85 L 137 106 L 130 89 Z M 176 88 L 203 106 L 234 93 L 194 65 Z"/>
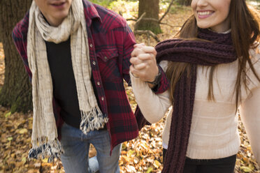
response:
<path id="1" fill-rule="evenodd" d="M 31 84 L 11 34 L 32 0 L 0 1 L 0 38 L 5 54 L 5 80 L 0 90 L 0 104 L 10 107 L 11 112 L 27 112 L 32 109 Z"/>

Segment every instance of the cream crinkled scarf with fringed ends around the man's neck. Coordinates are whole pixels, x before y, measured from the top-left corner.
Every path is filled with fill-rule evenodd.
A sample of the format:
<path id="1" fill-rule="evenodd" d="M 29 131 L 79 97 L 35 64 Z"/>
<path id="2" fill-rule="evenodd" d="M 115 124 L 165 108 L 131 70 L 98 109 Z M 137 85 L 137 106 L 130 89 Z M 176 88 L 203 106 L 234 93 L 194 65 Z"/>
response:
<path id="1" fill-rule="evenodd" d="M 51 27 L 33 1 L 29 10 L 29 31 L 27 36 L 27 56 L 32 73 L 32 94 L 34 120 L 31 136 L 32 149 L 29 158 L 50 156 L 59 158 L 63 152 L 57 140 L 57 127 L 53 114 L 52 77 L 48 64 L 45 41 L 61 43 L 71 37 L 71 60 L 78 103 L 82 120 L 80 130 L 87 134 L 90 130 L 103 128 L 108 117 L 103 116 L 96 102 L 91 83 L 91 66 L 87 29 L 82 0 L 73 0 L 68 16 L 59 27 Z"/>

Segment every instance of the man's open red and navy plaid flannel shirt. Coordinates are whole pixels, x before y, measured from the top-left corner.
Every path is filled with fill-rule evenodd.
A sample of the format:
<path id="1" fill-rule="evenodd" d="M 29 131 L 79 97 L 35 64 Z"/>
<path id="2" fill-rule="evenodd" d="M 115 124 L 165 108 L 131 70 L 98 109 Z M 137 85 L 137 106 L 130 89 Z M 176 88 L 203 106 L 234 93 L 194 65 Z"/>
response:
<path id="1" fill-rule="evenodd" d="M 97 100 L 103 114 L 108 114 L 109 120 L 106 126 L 110 133 L 110 151 L 112 151 L 117 144 L 138 136 L 138 123 L 129 105 L 123 82 L 124 79 L 130 83 L 129 59 L 136 41 L 123 17 L 87 0 L 82 1 L 87 25 L 89 61 L 98 93 Z M 13 40 L 31 81 L 31 70 L 27 60 L 28 26 L 29 13 L 13 29 Z M 165 75 L 161 80 L 166 81 Z M 157 93 L 166 90 L 164 82 L 157 89 Z M 60 109 L 53 99 L 59 139 L 63 124 Z"/>

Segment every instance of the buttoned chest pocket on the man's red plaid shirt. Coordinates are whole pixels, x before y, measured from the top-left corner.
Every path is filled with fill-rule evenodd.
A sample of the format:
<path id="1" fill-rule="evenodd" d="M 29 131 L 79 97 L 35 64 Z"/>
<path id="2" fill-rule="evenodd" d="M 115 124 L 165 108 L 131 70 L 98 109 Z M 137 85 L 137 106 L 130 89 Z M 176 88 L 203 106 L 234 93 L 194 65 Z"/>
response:
<path id="1" fill-rule="evenodd" d="M 122 78 L 117 49 L 101 50 L 96 53 L 96 57 L 103 81 L 120 80 Z"/>

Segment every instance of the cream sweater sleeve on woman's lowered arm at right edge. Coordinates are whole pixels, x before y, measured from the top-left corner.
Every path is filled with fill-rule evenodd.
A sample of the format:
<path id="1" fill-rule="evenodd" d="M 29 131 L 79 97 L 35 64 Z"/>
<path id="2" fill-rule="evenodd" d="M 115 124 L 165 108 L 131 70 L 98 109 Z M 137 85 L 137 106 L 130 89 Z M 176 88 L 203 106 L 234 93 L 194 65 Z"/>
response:
<path id="1" fill-rule="evenodd" d="M 245 126 L 252 151 L 260 165 L 260 87 L 252 90 L 252 94 L 240 106 L 240 116 Z"/>

